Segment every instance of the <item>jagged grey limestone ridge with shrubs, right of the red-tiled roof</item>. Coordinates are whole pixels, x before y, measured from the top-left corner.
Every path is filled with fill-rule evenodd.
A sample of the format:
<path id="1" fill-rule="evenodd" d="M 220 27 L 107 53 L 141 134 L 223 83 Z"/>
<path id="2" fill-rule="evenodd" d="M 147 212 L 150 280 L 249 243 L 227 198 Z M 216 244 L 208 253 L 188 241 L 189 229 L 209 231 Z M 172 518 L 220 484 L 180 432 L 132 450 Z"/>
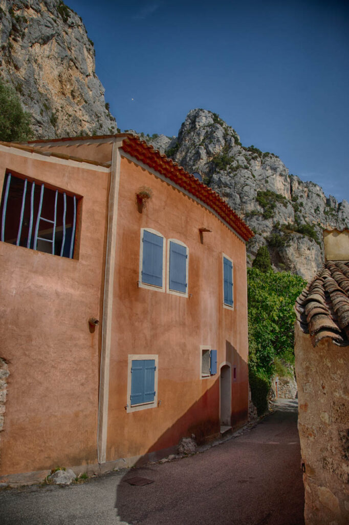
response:
<path id="1" fill-rule="evenodd" d="M 311 279 L 322 265 L 323 228 L 349 227 L 349 204 L 290 175 L 272 153 L 246 148 L 236 131 L 210 111 L 194 109 L 178 138 L 148 139 L 189 172 L 198 171 L 254 230 L 249 262 L 267 245 L 276 268 Z"/>

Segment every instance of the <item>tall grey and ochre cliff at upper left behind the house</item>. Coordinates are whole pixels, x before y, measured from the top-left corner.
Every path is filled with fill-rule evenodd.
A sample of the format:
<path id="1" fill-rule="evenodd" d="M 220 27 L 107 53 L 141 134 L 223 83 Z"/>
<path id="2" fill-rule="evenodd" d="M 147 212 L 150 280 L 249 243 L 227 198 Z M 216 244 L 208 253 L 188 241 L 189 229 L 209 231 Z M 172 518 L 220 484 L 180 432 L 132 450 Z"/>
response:
<path id="1" fill-rule="evenodd" d="M 93 43 L 61 0 L 0 0 L 0 78 L 32 114 L 35 138 L 116 133 Z"/>

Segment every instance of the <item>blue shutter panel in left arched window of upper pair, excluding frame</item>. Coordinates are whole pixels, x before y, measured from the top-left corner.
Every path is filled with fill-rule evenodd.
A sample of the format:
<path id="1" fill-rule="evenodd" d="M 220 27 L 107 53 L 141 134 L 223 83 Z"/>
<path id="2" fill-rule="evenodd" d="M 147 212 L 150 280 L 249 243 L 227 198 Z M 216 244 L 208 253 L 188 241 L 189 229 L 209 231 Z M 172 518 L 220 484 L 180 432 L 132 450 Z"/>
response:
<path id="1" fill-rule="evenodd" d="M 144 230 L 142 282 L 162 286 L 162 253 L 163 238 Z"/>

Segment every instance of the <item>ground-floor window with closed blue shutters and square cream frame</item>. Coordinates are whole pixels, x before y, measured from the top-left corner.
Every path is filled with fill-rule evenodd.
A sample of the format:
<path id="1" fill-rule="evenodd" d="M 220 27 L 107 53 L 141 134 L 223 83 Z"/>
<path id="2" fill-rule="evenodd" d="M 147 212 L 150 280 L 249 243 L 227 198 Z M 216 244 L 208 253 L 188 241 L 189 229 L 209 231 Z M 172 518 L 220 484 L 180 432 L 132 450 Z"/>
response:
<path id="1" fill-rule="evenodd" d="M 157 406 L 158 356 L 128 356 L 127 412 Z"/>

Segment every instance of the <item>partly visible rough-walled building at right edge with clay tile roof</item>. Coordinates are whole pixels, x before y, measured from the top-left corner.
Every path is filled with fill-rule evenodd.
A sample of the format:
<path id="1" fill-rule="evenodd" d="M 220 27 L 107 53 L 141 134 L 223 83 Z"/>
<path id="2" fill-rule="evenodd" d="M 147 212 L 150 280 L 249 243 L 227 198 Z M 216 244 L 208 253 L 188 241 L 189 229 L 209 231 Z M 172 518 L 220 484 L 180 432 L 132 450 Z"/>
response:
<path id="1" fill-rule="evenodd" d="M 296 303 L 298 429 L 306 525 L 349 523 L 349 232 L 325 232 L 326 262 Z"/>

